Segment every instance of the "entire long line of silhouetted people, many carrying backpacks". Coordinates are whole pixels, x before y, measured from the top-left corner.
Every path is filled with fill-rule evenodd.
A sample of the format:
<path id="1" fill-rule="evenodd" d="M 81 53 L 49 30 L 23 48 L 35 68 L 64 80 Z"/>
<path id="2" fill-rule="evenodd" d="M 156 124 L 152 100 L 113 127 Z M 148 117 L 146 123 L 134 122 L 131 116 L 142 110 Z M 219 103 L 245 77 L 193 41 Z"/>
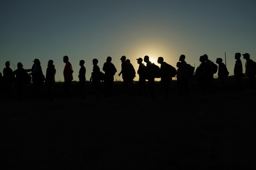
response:
<path id="1" fill-rule="evenodd" d="M 241 91 L 244 89 L 243 86 L 243 77 L 248 78 L 248 89 L 256 89 L 256 62 L 250 59 L 250 55 L 248 53 L 243 54 L 243 58 L 246 60 L 245 62 L 245 74 L 243 73 L 243 65 L 241 61 L 241 53 L 235 53 L 235 66 L 234 66 L 234 91 Z M 119 76 L 122 75 L 124 92 L 129 95 L 134 95 L 134 78 L 136 77 L 136 70 L 134 69 L 132 63 L 126 56 L 121 56 L 121 71 L 119 72 Z M 144 56 L 144 59 L 138 58 L 136 59 L 138 63 L 138 91 L 136 95 L 139 97 L 150 97 L 156 98 L 156 87 L 155 87 L 155 78 L 159 78 L 156 76 L 156 68 L 155 64 L 150 61 L 148 55 Z M 146 63 L 146 65 L 143 63 Z M 194 77 L 196 78 L 198 85 L 200 87 L 201 95 L 211 95 L 215 92 L 215 87 L 213 86 L 214 74 L 217 73 L 218 70 L 218 86 L 221 89 L 221 92 L 227 91 L 227 77 L 230 75 L 230 72 L 227 70 L 226 65 L 223 63 L 222 58 L 216 58 L 217 64 L 209 60 L 208 55 L 201 55 L 199 58 L 201 62 L 200 65 L 194 69 Z M 0 87 L 3 96 L 3 101 L 10 101 L 10 94 L 12 93 L 12 84 L 15 84 L 15 92 L 18 101 L 23 100 L 23 92 L 24 86 L 26 84 L 31 83 L 32 81 L 32 99 L 33 101 L 41 100 L 42 86 L 45 84 L 47 90 L 47 97 L 49 101 L 53 101 L 54 99 L 54 86 L 55 86 L 55 74 L 56 69 L 53 65 L 53 60 L 48 61 L 46 75 L 44 76 L 41 68 L 41 63 L 39 59 L 34 59 L 34 64 L 31 69 L 24 69 L 23 64 L 19 62 L 17 64 L 17 69 L 12 70 L 10 68 L 10 62 L 6 61 L 5 68 L 3 69 L 3 74 L 0 73 Z M 64 94 L 66 98 L 71 100 L 71 82 L 73 80 L 73 69 L 72 65 L 68 60 L 68 56 L 63 57 L 63 62 L 65 63 L 65 67 L 63 70 L 64 76 Z M 93 93 L 96 98 L 100 98 L 100 67 L 97 65 L 98 60 L 94 58 L 92 60 L 93 70 L 91 72 L 90 81 L 92 81 Z M 177 92 L 178 96 L 188 96 L 189 92 L 189 79 L 191 78 L 191 65 L 186 63 L 185 55 L 179 56 L 179 61 L 177 62 L 177 70 L 173 70 L 173 66 L 164 62 L 163 57 L 159 57 L 157 60 L 160 66 L 160 84 L 161 90 L 163 92 L 163 96 L 165 98 L 169 98 L 169 89 L 170 82 L 173 80 L 173 77 L 176 77 L 177 80 Z M 79 61 L 79 95 L 81 100 L 85 99 L 85 61 Z M 114 84 L 114 76 L 117 72 L 115 65 L 112 63 L 112 58 L 108 56 L 106 58 L 106 62 L 102 68 L 104 72 L 104 97 L 108 98 L 113 94 L 113 84 Z M 29 72 L 29 73 L 28 73 Z"/>

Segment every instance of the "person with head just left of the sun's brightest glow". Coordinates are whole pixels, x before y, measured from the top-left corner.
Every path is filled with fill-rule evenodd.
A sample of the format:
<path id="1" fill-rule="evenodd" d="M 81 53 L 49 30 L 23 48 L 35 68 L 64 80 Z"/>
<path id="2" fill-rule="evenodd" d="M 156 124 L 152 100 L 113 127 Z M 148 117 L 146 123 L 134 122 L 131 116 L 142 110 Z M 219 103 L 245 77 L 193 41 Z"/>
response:
<path id="1" fill-rule="evenodd" d="M 156 98 L 156 92 L 155 92 L 155 74 L 154 74 L 154 68 L 153 63 L 149 61 L 149 56 L 144 56 L 144 62 L 147 63 L 147 72 L 148 72 L 148 89 L 149 94 L 151 98 Z"/>

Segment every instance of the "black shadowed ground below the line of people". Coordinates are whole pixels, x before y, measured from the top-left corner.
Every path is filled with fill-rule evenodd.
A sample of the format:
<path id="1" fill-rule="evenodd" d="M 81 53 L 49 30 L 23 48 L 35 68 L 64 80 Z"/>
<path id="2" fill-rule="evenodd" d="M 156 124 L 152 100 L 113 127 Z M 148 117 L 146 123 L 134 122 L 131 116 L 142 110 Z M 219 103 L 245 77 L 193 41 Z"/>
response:
<path id="1" fill-rule="evenodd" d="M 171 170 L 256 169 L 256 91 L 202 97 L 56 99 L 0 103 L 1 167 L 4 169 Z M 158 88 L 159 86 L 157 86 Z M 118 89 L 119 88 L 119 89 Z M 2 168 L 1 168 L 2 169 Z"/>

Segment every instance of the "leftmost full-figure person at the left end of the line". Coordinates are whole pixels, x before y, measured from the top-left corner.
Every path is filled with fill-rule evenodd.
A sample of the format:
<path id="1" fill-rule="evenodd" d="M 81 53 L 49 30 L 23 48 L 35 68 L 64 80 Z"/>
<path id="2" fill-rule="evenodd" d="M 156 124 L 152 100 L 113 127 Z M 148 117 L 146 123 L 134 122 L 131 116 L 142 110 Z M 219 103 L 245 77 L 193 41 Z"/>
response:
<path id="1" fill-rule="evenodd" d="M 3 100 L 9 101 L 12 95 L 12 83 L 14 82 L 15 75 L 10 68 L 9 61 L 5 63 L 6 68 L 3 69 Z"/>

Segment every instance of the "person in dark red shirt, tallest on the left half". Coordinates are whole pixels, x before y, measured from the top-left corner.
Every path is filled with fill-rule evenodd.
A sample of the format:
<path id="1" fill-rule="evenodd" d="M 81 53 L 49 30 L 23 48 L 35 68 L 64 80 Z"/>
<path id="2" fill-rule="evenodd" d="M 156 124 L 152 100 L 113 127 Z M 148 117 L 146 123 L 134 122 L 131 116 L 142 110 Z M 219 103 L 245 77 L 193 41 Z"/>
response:
<path id="1" fill-rule="evenodd" d="M 63 62 L 66 63 L 65 67 L 64 67 L 64 71 L 63 71 L 65 93 L 66 93 L 68 99 L 71 99 L 71 82 L 73 80 L 72 73 L 74 71 L 73 71 L 71 63 L 68 61 L 67 55 L 65 55 L 63 57 Z"/>

